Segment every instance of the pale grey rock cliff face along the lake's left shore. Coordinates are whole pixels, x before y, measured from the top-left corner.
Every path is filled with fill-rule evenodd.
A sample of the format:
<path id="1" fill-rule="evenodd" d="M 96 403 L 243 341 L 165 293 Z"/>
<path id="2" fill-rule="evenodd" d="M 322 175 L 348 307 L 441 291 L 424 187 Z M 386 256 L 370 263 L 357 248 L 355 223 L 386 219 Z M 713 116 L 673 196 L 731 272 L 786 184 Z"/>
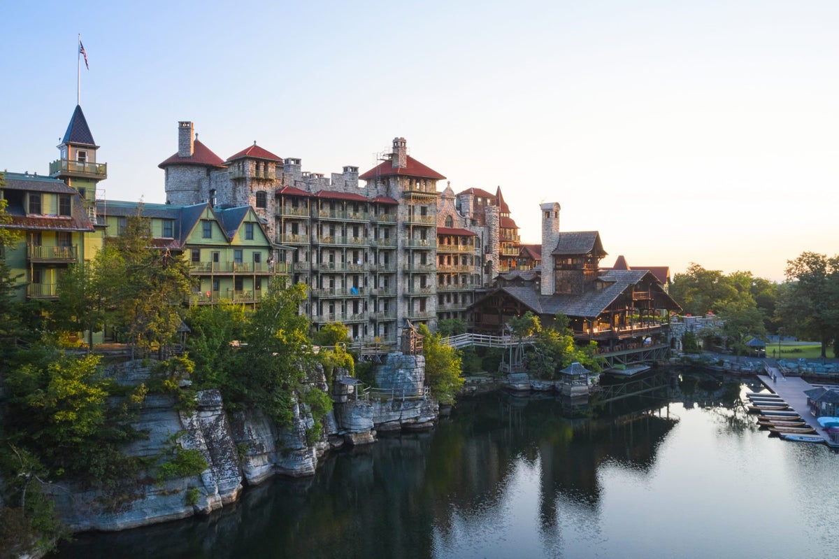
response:
<path id="1" fill-rule="evenodd" d="M 235 501 L 245 484 L 262 483 L 275 474 L 314 475 L 323 455 L 344 442 L 367 444 L 376 440 L 377 430 L 433 426 L 437 404 L 425 398 L 421 359 L 400 353 L 388 356 L 379 384 L 381 397 L 357 394 L 354 386 L 347 390 L 324 421 L 324 437 L 314 443 L 306 437 L 314 421 L 305 405 L 294 405 L 291 426 L 281 429 L 258 410 L 228 415 L 217 390 L 200 391 L 197 407 L 189 413 L 176 410 L 172 396 L 149 395 L 134 425 L 148 437 L 123 452 L 155 462 L 177 445 L 200 452 L 206 470 L 163 481 L 150 474 L 125 479 L 107 491 L 76 484 L 54 486 L 48 491 L 56 513 L 73 531 L 124 530 L 204 515 Z M 121 384 L 148 382 L 151 376 L 142 362 L 125 363 L 108 373 Z"/>

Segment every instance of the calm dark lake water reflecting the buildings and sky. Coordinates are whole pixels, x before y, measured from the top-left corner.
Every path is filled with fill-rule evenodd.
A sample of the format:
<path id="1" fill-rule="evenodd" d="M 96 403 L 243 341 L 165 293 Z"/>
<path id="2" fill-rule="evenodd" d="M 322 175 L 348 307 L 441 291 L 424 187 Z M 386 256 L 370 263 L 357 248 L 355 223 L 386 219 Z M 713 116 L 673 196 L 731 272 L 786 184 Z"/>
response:
<path id="1" fill-rule="evenodd" d="M 489 394 L 435 431 L 329 458 L 203 520 L 82 535 L 60 557 L 823 557 L 839 454 L 757 428 L 740 381 L 682 376 L 567 419 Z"/>

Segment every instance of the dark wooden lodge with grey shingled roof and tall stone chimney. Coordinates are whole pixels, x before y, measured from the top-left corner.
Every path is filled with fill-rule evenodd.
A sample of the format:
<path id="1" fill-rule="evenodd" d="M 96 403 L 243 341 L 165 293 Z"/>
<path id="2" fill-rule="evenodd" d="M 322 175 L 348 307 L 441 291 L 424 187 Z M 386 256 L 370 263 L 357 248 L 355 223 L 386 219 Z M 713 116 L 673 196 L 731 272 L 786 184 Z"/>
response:
<path id="1" fill-rule="evenodd" d="M 577 342 L 633 355 L 616 363 L 663 357 L 671 346 L 670 313 L 680 306 L 650 270 L 601 269 L 607 253 L 599 232 L 559 232 L 558 214 L 559 204 L 543 205 L 542 264 L 500 274 L 472 306 L 474 332 L 500 334 L 527 311 L 547 326 L 561 313 Z"/>

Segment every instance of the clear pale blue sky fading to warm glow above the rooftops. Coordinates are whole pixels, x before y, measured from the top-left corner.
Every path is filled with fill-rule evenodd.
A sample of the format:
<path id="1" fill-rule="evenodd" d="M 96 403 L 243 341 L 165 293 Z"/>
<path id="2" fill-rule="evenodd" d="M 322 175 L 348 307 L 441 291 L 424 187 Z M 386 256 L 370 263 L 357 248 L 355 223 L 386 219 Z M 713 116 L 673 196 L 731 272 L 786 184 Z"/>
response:
<path id="1" fill-rule="evenodd" d="M 839 252 L 839 3 L 3 2 L 0 170 L 46 174 L 76 106 L 112 200 L 162 202 L 180 120 L 363 172 L 396 136 L 462 191 L 539 203 L 611 265 L 783 280 Z M 442 181 L 440 190 L 446 187 Z"/>

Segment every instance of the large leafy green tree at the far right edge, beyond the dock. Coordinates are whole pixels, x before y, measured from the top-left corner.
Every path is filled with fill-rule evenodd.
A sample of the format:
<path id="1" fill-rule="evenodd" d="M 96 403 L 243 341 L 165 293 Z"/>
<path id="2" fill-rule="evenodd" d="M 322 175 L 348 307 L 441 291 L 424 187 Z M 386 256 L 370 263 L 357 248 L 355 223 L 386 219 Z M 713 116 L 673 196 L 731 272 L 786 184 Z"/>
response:
<path id="1" fill-rule="evenodd" d="M 784 328 L 818 340 L 824 358 L 827 346 L 839 337 L 839 256 L 801 253 L 787 261 L 786 278 L 778 300 Z"/>

